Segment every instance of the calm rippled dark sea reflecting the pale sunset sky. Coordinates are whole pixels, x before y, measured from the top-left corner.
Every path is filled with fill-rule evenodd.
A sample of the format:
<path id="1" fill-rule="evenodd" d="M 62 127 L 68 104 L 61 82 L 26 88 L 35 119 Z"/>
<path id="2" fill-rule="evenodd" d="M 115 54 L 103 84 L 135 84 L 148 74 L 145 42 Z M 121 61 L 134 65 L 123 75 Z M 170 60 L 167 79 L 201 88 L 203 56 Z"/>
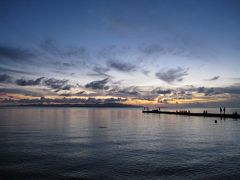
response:
<path id="1" fill-rule="evenodd" d="M 215 119 L 121 108 L 0 109 L 0 177 L 240 179 L 240 120 Z"/>

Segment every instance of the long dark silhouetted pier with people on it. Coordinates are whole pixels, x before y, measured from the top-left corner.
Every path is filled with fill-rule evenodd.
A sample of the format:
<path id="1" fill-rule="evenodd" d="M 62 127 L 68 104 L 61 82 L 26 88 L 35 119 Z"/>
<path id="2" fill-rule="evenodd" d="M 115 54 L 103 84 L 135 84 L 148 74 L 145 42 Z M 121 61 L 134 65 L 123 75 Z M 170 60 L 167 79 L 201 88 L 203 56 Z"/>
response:
<path id="1" fill-rule="evenodd" d="M 183 115 L 183 116 L 201 116 L 201 117 L 217 117 L 217 118 L 232 118 L 232 119 L 240 119 L 240 114 L 217 114 L 217 113 L 192 113 L 190 111 L 161 111 L 159 109 L 145 109 L 142 111 L 143 113 L 156 113 L 156 114 L 170 114 L 170 115 Z"/>

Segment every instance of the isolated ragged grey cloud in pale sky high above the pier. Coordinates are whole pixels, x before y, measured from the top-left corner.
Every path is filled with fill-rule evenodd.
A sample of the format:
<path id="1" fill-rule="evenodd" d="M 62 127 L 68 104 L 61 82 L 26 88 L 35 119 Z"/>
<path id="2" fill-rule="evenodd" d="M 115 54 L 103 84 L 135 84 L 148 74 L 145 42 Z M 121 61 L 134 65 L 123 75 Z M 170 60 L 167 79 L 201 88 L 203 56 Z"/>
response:
<path id="1" fill-rule="evenodd" d="M 188 69 L 183 69 L 182 67 L 163 70 L 156 73 L 158 79 L 163 80 L 167 83 L 172 83 L 174 81 L 182 81 L 184 76 L 187 75 Z"/>

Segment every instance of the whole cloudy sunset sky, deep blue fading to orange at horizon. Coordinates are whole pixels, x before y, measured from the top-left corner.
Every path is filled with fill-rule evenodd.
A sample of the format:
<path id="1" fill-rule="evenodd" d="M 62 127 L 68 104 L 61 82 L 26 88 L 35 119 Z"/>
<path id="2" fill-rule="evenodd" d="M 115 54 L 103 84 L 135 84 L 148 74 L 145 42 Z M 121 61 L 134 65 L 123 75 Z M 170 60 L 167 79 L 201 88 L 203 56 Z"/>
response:
<path id="1" fill-rule="evenodd" d="M 238 0 L 0 0 L 0 103 L 240 107 Z"/>

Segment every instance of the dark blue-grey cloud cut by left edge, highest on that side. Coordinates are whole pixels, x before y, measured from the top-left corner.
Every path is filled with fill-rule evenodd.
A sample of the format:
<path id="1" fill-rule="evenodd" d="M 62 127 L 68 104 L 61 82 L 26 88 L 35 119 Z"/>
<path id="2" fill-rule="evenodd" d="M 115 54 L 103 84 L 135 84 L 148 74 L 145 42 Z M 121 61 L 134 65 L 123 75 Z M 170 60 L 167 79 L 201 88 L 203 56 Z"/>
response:
<path id="1" fill-rule="evenodd" d="M 23 50 L 16 47 L 0 45 L 0 58 L 8 59 L 12 61 L 28 60 L 35 55 L 28 50 Z"/>

